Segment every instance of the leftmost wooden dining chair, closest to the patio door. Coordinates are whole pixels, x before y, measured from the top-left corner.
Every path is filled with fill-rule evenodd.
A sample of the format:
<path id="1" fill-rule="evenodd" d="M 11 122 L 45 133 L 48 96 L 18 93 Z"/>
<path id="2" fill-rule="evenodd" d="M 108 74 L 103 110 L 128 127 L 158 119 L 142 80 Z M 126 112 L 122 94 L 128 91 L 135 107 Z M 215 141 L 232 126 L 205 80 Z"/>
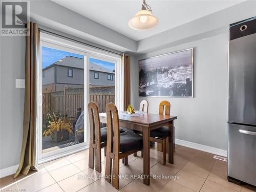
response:
<path id="1" fill-rule="evenodd" d="M 100 128 L 99 110 L 95 102 L 88 103 L 88 114 L 90 122 L 89 167 L 94 168 L 95 162 L 95 170 L 101 173 L 101 148 L 106 147 L 107 127 Z M 120 130 L 120 132 L 124 131 Z M 105 152 L 106 148 L 104 148 Z"/>

